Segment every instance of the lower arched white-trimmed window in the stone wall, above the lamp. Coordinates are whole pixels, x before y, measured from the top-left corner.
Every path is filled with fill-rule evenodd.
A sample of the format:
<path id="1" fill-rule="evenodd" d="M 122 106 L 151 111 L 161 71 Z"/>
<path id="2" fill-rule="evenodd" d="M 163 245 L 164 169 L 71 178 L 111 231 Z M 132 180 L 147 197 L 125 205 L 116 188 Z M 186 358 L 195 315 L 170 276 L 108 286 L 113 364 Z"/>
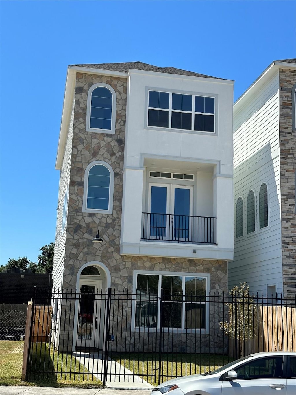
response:
<path id="1" fill-rule="evenodd" d="M 114 171 L 101 160 L 90 163 L 84 172 L 83 213 L 112 214 Z"/>

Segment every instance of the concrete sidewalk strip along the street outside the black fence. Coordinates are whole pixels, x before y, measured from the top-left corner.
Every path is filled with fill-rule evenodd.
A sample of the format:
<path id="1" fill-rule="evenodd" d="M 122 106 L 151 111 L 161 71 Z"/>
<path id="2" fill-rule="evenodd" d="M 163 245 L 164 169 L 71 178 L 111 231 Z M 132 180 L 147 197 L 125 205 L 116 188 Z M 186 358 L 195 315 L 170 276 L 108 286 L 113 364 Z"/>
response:
<path id="1" fill-rule="evenodd" d="M 151 390 L 0 386 L 0 395 L 150 395 Z"/>

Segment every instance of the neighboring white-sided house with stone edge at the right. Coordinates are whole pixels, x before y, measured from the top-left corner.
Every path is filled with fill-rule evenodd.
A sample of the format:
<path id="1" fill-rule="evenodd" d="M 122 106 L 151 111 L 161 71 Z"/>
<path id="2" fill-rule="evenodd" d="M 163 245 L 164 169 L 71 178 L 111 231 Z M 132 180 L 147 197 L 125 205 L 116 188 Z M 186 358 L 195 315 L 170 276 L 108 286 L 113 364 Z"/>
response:
<path id="1" fill-rule="evenodd" d="M 234 103 L 229 288 L 295 292 L 295 83 L 295 59 L 275 61 Z"/>

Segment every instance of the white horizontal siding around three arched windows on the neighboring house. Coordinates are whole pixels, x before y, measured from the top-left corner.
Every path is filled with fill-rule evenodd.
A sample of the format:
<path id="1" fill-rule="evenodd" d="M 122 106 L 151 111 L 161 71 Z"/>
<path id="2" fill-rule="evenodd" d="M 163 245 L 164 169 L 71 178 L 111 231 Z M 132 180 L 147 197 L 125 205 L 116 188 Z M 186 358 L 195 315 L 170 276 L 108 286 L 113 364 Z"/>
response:
<path id="1" fill-rule="evenodd" d="M 282 292 L 279 171 L 279 81 L 276 72 L 239 111 L 234 107 L 234 260 L 228 286 L 247 282 L 251 292 L 268 284 Z M 238 108 L 238 107 L 237 107 Z M 259 190 L 268 186 L 269 223 L 259 229 Z M 247 195 L 255 192 L 255 232 L 247 234 Z M 244 201 L 244 236 L 236 239 L 236 201 Z"/>

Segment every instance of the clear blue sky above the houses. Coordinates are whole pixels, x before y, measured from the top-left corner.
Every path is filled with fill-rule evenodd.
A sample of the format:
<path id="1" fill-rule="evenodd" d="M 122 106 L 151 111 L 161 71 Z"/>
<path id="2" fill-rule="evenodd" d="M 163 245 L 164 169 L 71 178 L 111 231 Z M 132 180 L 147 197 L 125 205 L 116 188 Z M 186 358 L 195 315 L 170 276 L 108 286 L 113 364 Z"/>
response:
<path id="1" fill-rule="evenodd" d="M 54 241 L 68 64 L 174 66 L 235 80 L 236 100 L 295 57 L 294 1 L 1 1 L 0 264 Z"/>

